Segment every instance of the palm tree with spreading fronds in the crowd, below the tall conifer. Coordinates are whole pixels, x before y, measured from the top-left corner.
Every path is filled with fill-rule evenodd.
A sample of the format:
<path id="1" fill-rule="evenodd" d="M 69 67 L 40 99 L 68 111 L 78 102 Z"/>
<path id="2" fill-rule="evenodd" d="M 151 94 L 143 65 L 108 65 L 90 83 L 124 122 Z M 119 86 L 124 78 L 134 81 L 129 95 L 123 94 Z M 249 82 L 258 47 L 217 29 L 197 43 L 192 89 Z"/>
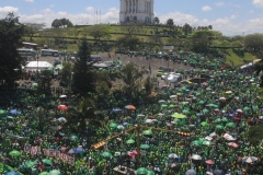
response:
<path id="1" fill-rule="evenodd" d="M 79 129 L 81 130 L 88 124 L 100 127 L 104 120 L 104 115 L 96 110 L 95 103 L 91 97 L 82 97 L 77 107 L 69 108 L 68 113 L 68 124 L 79 124 Z"/>

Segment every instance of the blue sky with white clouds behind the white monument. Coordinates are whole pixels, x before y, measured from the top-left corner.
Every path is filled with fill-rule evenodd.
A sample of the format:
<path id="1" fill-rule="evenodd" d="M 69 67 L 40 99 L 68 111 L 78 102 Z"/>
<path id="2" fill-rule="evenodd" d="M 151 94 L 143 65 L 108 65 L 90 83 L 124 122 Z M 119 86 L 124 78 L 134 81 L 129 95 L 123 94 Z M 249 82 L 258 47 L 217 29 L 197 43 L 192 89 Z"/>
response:
<path id="1" fill-rule="evenodd" d="M 0 0 L 0 19 L 9 12 L 22 23 L 45 23 L 69 19 L 75 25 L 118 23 L 119 0 Z M 175 25 L 211 25 L 226 36 L 263 33 L 263 0 L 155 0 L 155 16 Z"/>

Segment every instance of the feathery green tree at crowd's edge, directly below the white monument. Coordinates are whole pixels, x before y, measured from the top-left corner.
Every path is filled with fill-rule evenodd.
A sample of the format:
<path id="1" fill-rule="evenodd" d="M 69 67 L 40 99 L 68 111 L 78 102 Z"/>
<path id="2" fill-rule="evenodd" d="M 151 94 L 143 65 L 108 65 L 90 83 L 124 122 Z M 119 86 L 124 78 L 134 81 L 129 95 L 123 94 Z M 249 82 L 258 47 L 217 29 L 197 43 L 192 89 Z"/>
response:
<path id="1" fill-rule="evenodd" d="M 138 91 L 141 84 L 141 71 L 136 68 L 134 62 L 129 62 L 122 69 L 121 78 L 124 81 L 123 91 L 126 92 L 127 97 L 132 97 L 132 94 Z"/>

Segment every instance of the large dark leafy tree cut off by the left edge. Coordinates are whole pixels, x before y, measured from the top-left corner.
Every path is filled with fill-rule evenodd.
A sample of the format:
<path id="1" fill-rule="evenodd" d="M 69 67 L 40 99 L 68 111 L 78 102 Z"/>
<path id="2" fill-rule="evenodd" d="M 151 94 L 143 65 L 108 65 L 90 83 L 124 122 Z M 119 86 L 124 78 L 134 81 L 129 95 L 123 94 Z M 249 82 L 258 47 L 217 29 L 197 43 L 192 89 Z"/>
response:
<path id="1" fill-rule="evenodd" d="M 24 61 L 16 50 L 21 46 L 24 25 L 19 22 L 18 16 L 9 13 L 5 19 L 0 20 L 0 80 L 13 88 Z"/>

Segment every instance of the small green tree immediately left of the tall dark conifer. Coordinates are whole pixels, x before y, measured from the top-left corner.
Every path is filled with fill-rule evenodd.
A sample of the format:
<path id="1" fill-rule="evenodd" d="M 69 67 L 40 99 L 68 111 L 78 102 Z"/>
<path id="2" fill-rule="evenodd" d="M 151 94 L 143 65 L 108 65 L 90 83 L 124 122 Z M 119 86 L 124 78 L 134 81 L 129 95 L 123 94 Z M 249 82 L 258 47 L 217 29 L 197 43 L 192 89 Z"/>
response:
<path id="1" fill-rule="evenodd" d="M 59 71 L 59 83 L 61 86 L 69 86 L 71 82 L 73 66 L 70 62 L 64 63 L 62 69 Z"/>

